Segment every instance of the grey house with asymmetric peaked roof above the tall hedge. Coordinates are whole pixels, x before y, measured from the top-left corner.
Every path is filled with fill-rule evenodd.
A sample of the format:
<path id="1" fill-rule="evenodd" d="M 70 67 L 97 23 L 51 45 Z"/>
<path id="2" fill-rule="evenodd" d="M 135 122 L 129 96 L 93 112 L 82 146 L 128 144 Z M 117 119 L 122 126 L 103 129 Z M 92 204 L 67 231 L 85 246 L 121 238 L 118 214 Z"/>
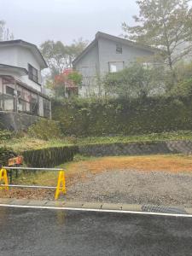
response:
<path id="1" fill-rule="evenodd" d="M 98 78 L 106 73 L 118 72 L 137 60 L 148 62 L 157 50 L 124 38 L 97 32 L 96 38 L 73 61 L 73 68 L 83 76 L 79 95 L 98 94 L 98 90 L 101 90 Z"/>

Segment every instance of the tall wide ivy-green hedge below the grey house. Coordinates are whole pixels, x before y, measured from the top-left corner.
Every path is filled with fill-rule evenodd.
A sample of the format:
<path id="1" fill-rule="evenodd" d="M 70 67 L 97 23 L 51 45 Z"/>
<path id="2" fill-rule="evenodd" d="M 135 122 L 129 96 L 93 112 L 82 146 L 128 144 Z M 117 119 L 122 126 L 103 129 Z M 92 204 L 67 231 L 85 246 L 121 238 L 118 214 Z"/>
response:
<path id="1" fill-rule="evenodd" d="M 52 109 L 62 132 L 77 137 L 192 130 L 192 97 L 53 102 Z"/>

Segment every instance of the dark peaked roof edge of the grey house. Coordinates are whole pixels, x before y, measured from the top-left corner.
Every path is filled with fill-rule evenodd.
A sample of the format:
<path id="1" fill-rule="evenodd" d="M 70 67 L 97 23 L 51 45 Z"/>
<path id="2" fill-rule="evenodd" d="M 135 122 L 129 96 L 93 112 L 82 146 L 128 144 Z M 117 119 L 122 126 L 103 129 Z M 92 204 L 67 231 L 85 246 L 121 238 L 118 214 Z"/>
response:
<path id="1" fill-rule="evenodd" d="M 126 44 L 126 45 L 132 46 L 132 47 L 137 48 L 137 49 L 144 49 L 144 50 L 149 51 L 151 53 L 155 53 L 157 51 L 160 51 L 160 49 L 153 48 L 153 47 L 150 47 L 150 46 L 144 45 L 144 44 L 138 44 L 136 42 L 133 42 L 131 40 L 127 40 L 125 38 L 119 38 L 119 37 L 109 35 L 107 33 L 97 32 L 96 33 L 96 38 L 84 49 L 84 51 L 82 51 L 82 53 L 80 55 L 77 56 L 77 58 L 73 61 L 73 64 L 76 64 L 94 45 L 96 45 L 99 38 L 106 38 L 106 39 L 109 39 L 109 40 L 113 40 L 117 43 Z"/>

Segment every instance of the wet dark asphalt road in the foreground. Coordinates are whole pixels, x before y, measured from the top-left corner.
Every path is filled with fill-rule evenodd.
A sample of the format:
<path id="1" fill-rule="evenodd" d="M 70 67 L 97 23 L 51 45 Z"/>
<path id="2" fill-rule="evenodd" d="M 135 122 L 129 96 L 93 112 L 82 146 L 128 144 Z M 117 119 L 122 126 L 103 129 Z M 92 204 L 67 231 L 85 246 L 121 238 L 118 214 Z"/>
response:
<path id="1" fill-rule="evenodd" d="M 192 218 L 0 207 L 0 255 L 192 255 Z"/>

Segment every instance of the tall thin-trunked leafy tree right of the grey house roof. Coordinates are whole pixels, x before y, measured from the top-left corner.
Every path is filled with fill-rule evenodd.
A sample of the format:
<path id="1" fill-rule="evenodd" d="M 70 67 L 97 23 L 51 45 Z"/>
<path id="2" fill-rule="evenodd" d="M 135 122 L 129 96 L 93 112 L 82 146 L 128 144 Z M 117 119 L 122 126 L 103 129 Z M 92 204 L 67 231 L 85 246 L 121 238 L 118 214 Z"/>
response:
<path id="1" fill-rule="evenodd" d="M 122 28 L 125 37 L 162 49 L 162 56 L 173 73 L 173 65 L 192 52 L 192 9 L 189 0 L 137 1 L 137 26 Z"/>

